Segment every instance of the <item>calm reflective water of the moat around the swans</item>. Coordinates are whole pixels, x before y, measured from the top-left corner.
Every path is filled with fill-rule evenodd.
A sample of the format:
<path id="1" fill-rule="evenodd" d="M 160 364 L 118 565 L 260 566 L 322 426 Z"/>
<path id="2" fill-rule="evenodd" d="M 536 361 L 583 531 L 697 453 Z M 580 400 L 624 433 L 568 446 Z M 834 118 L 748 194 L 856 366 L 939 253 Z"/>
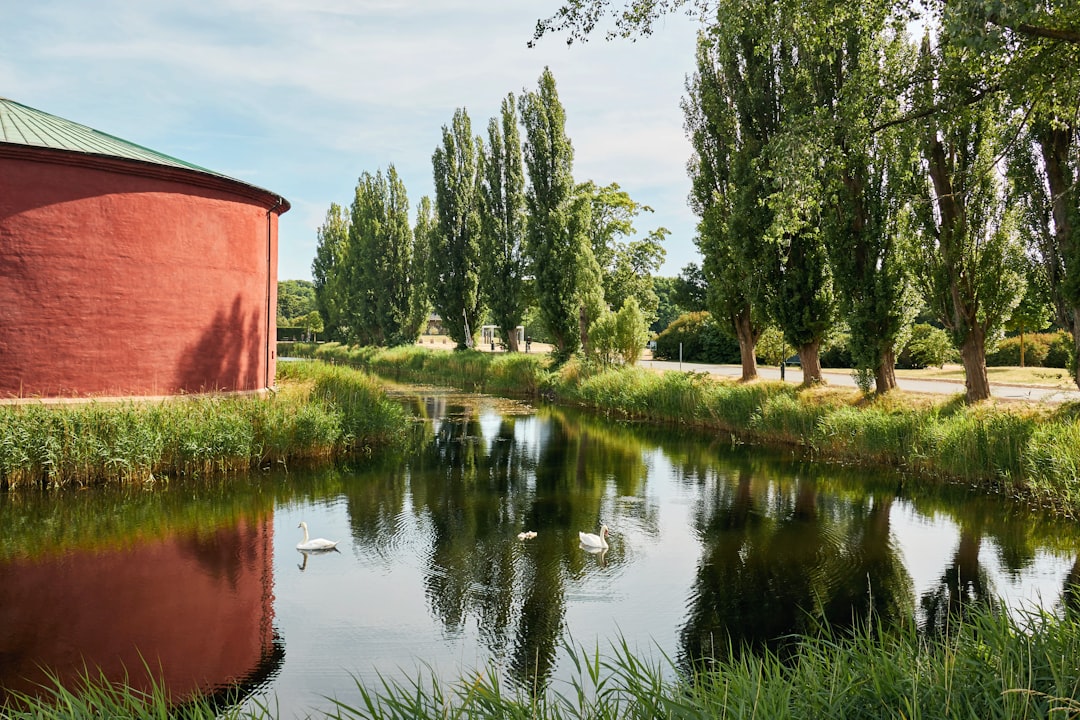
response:
<path id="1" fill-rule="evenodd" d="M 934 631 L 991 598 L 1075 601 L 1080 530 L 993 499 L 558 409 L 402 399 L 417 449 L 360 468 L 0 493 L 0 697 L 42 665 L 138 684 L 145 660 L 179 693 L 240 683 L 294 717 L 380 674 L 490 663 L 558 683 L 566 642 L 687 665 L 820 619 Z M 297 552 L 300 520 L 340 552 Z M 602 521 L 610 549 L 590 554 L 578 531 Z"/>

